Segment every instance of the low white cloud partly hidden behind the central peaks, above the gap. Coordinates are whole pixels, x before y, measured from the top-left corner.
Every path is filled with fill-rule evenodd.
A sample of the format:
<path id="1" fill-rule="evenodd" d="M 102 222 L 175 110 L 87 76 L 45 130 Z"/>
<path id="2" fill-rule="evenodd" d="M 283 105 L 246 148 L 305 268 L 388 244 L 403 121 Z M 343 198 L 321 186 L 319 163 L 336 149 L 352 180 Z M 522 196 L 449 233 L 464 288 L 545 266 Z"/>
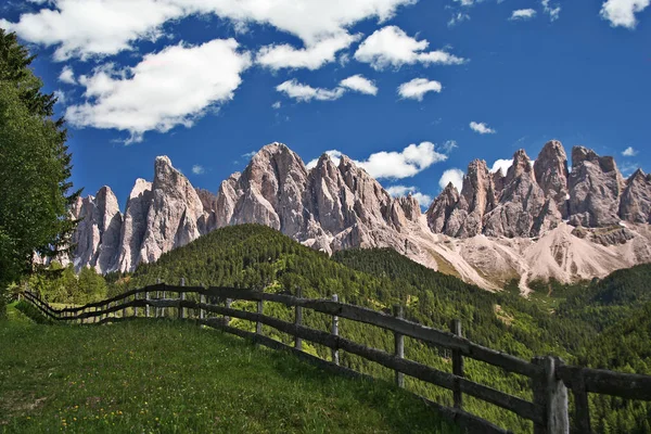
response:
<path id="1" fill-rule="evenodd" d="M 326 152 L 334 164 L 339 164 L 342 156 L 341 151 L 331 150 Z M 421 142 L 420 144 L 410 144 L 401 152 L 376 152 L 369 155 L 365 161 L 354 161 L 355 164 L 363 168 L 375 179 L 403 179 L 420 174 L 434 163 L 445 162 L 447 155 L 435 150 L 434 143 Z M 318 158 L 310 161 L 307 168 L 317 165 Z"/>

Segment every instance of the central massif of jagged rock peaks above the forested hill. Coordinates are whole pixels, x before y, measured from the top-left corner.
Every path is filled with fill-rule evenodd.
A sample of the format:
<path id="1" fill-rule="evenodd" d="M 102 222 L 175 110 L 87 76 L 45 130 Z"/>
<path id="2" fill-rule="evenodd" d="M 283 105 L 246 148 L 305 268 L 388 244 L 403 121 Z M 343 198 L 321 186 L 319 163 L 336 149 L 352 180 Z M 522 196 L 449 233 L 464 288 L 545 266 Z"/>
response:
<path id="1" fill-rule="evenodd" d="M 337 166 L 322 155 L 308 170 L 281 143 L 264 146 L 217 194 L 218 226 L 257 222 L 329 253 L 353 246 L 404 248 L 400 229 L 419 218 L 414 200 L 392 199 L 349 158 Z"/>

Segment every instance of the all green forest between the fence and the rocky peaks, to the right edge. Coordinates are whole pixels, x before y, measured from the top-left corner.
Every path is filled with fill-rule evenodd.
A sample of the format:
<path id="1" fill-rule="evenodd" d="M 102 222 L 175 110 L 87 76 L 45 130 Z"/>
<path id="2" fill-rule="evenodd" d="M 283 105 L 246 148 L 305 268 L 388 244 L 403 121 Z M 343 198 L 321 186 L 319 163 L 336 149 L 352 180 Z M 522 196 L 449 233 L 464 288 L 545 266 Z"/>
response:
<path id="1" fill-rule="evenodd" d="M 106 281 L 108 295 L 158 280 L 176 285 L 181 278 L 188 285 L 255 288 L 276 293 L 294 294 L 301 286 L 306 297 L 330 298 L 336 293 L 341 301 L 387 314 L 394 305 L 401 304 L 408 319 L 443 330 L 448 328 L 451 319 L 459 318 L 467 337 L 524 359 L 556 354 L 570 363 L 644 372 L 644 366 L 649 366 L 649 356 L 644 353 L 650 345 L 649 339 L 636 329 L 636 322 L 630 323 L 633 329 L 638 330 L 636 333 L 627 331 L 624 326 L 613 327 L 618 324 L 621 311 L 635 315 L 638 309 L 635 301 L 649 296 L 639 290 L 643 288 L 646 272 L 644 267 L 636 267 L 602 281 L 576 285 L 559 282 L 544 285 L 538 282 L 538 291 L 526 299 L 519 295 L 516 289 L 489 293 L 418 265 L 392 250 L 349 250 L 329 258 L 267 227 L 243 225 L 214 231 L 164 254 L 155 264 L 143 264 L 133 273 L 112 273 Z M 252 311 L 256 308 L 255 304 L 246 302 L 235 302 L 233 307 Z M 614 309 L 617 315 L 605 315 L 605 318 L 611 318 L 605 322 L 599 318 L 592 321 L 587 312 L 597 308 L 603 311 Z M 265 304 L 264 312 L 293 320 L 293 311 L 278 304 Z M 330 330 L 331 318 L 326 315 L 305 310 L 304 321 L 309 327 Z M 646 327 L 648 334 L 648 323 L 637 323 L 647 324 L 642 328 Z M 243 320 L 232 320 L 231 326 L 255 330 L 255 324 Z M 340 332 L 355 342 L 393 352 L 393 335 L 382 329 L 342 319 Z M 272 328 L 264 327 L 264 333 L 292 343 L 290 336 Z M 612 333 L 610 339 L 604 337 L 608 333 Z M 629 339 L 623 340 L 623 335 Z M 620 354 L 617 342 L 627 342 L 629 348 L 620 357 L 616 357 Z M 328 348 L 307 342 L 304 345 L 311 354 L 330 358 Z M 604 359 L 586 358 L 586 355 L 593 354 L 604 355 Z M 610 355 L 609 358 L 605 355 Z M 406 357 L 443 371 L 451 370 L 448 350 L 414 340 L 406 340 Z M 387 369 L 346 353 L 341 355 L 341 361 L 381 379 L 391 380 L 393 375 Z M 529 381 L 521 375 L 507 374 L 470 359 L 465 361 L 465 373 L 473 381 L 532 398 Z M 408 390 L 443 405 L 451 405 L 449 391 L 413 379 L 406 380 Z M 644 433 L 640 431 L 644 429 L 642 420 L 648 414 L 644 405 L 596 396 L 590 399 L 593 414 L 599 414 L 600 425 L 595 426 L 598 433 L 608 430 Z M 477 399 L 465 399 L 464 407 L 512 431 L 531 431 L 528 422 Z M 622 416 L 624 411 L 626 417 Z M 610 414 L 618 416 L 613 419 Z"/>

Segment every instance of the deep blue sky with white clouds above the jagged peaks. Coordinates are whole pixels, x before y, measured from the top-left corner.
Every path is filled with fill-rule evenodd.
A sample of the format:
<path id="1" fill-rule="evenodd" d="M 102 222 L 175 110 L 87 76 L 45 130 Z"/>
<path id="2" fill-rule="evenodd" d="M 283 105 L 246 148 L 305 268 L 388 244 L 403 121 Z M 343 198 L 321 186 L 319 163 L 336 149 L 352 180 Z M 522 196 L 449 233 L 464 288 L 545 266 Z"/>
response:
<path id="1" fill-rule="evenodd" d="M 168 155 L 217 191 L 279 141 L 360 162 L 426 205 L 473 158 L 559 139 L 651 170 L 649 0 L 31 0 L 0 27 L 38 54 L 86 194 L 124 207 Z"/>

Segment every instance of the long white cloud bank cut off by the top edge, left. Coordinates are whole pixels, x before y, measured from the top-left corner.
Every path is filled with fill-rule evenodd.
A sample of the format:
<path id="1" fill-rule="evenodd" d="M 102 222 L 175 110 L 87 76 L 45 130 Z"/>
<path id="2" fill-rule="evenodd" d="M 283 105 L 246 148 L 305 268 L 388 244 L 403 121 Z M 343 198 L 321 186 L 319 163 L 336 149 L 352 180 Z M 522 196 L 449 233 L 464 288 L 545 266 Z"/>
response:
<path id="1" fill-rule="evenodd" d="M 391 18 L 416 0 L 54 0 L 52 7 L 24 13 L 0 27 L 28 42 L 56 46 L 55 59 L 88 59 L 132 50 L 133 42 L 155 40 L 163 25 L 190 15 L 216 15 L 235 28 L 268 24 L 295 35 L 306 48 L 341 35 L 357 22 Z"/>

